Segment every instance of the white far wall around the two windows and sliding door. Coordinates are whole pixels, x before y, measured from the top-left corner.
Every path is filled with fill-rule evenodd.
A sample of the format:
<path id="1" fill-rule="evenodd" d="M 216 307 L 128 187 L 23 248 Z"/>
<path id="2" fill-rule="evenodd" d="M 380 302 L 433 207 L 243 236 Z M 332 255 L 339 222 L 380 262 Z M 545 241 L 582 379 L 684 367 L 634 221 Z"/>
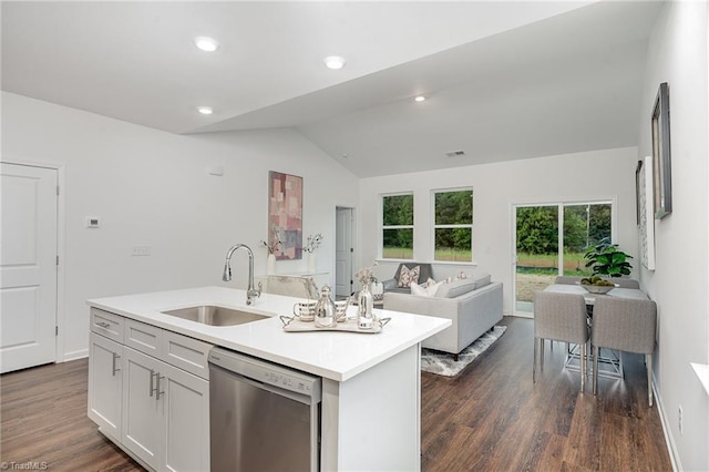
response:
<path id="1" fill-rule="evenodd" d="M 414 259 L 432 260 L 432 189 L 472 186 L 473 258 L 480 270 L 492 274 L 504 285 L 504 311 L 512 312 L 512 205 L 531 202 L 586 201 L 617 198 L 617 242 L 631 255 L 637 254 L 635 216 L 635 167 L 637 148 L 595 151 L 579 154 L 471 165 L 436 172 L 398 174 L 360 181 L 360 265 L 377 257 L 379 195 L 392 192 L 414 194 Z M 637 265 L 637 264 L 635 264 Z M 377 276 L 391 278 L 397 264 L 380 263 Z M 452 267 L 452 268 L 451 268 Z M 438 265 L 435 270 L 466 269 L 465 266 Z M 470 269 L 470 266 L 467 267 Z M 444 275 L 444 274 L 442 274 Z"/>

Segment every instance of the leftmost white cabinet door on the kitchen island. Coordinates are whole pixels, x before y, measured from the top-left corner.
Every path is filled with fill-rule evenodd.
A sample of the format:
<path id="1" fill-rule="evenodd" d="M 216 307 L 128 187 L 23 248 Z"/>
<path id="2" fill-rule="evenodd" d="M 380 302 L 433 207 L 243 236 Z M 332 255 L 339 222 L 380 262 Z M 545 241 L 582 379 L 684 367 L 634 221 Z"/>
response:
<path id="1" fill-rule="evenodd" d="M 120 440 L 123 346 L 92 332 L 89 349 L 89 418 Z"/>

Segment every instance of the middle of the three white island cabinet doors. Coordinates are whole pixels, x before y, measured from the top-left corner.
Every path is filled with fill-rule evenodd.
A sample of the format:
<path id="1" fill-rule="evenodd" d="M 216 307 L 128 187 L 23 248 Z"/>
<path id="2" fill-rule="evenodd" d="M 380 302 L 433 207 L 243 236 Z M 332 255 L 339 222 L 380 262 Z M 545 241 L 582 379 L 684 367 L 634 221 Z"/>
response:
<path id="1" fill-rule="evenodd" d="M 162 404 L 157 380 L 162 362 L 123 347 L 123 429 L 121 442 L 152 469 L 157 469 Z"/>

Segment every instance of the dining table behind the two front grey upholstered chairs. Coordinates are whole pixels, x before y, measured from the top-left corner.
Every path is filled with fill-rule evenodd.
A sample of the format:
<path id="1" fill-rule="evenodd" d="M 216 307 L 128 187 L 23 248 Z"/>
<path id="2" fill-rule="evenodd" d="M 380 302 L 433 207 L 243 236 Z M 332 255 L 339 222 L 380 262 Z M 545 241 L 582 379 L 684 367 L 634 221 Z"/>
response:
<path id="1" fill-rule="evenodd" d="M 592 294 L 586 290 L 580 284 L 552 284 L 544 289 L 544 291 L 552 291 L 555 294 L 576 294 L 583 295 L 586 301 L 586 308 L 588 309 L 589 324 L 593 329 L 593 307 L 597 297 L 617 297 L 617 298 L 630 298 L 635 300 L 649 300 L 647 294 L 637 288 L 620 288 L 616 287 L 606 294 Z M 566 362 L 565 368 L 572 371 L 579 371 L 580 362 L 580 349 L 578 346 L 568 345 L 566 349 Z M 593 351 L 593 349 L 590 350 Z M 609 378 L 623 378 L 623 352 L 614 349 L 600 349 L 602 353 L 598 356 L 598 376 Z M 593 362 L 590 362 L 593 366 Z M 586 372 L 592 370 L 586 369 Z"/>

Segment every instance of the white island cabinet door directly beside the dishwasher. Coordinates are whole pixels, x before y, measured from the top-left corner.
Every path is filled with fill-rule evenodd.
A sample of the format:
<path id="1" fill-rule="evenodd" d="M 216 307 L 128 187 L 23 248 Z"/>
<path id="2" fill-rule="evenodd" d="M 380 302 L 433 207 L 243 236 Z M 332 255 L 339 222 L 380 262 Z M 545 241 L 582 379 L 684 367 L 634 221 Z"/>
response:
<path id="1" fill-rule="evenodd" d="M 166 366 L 161 380 L 165 392 L 165 450 L 161 470 L 209 470 L 209 382 Z"/>

